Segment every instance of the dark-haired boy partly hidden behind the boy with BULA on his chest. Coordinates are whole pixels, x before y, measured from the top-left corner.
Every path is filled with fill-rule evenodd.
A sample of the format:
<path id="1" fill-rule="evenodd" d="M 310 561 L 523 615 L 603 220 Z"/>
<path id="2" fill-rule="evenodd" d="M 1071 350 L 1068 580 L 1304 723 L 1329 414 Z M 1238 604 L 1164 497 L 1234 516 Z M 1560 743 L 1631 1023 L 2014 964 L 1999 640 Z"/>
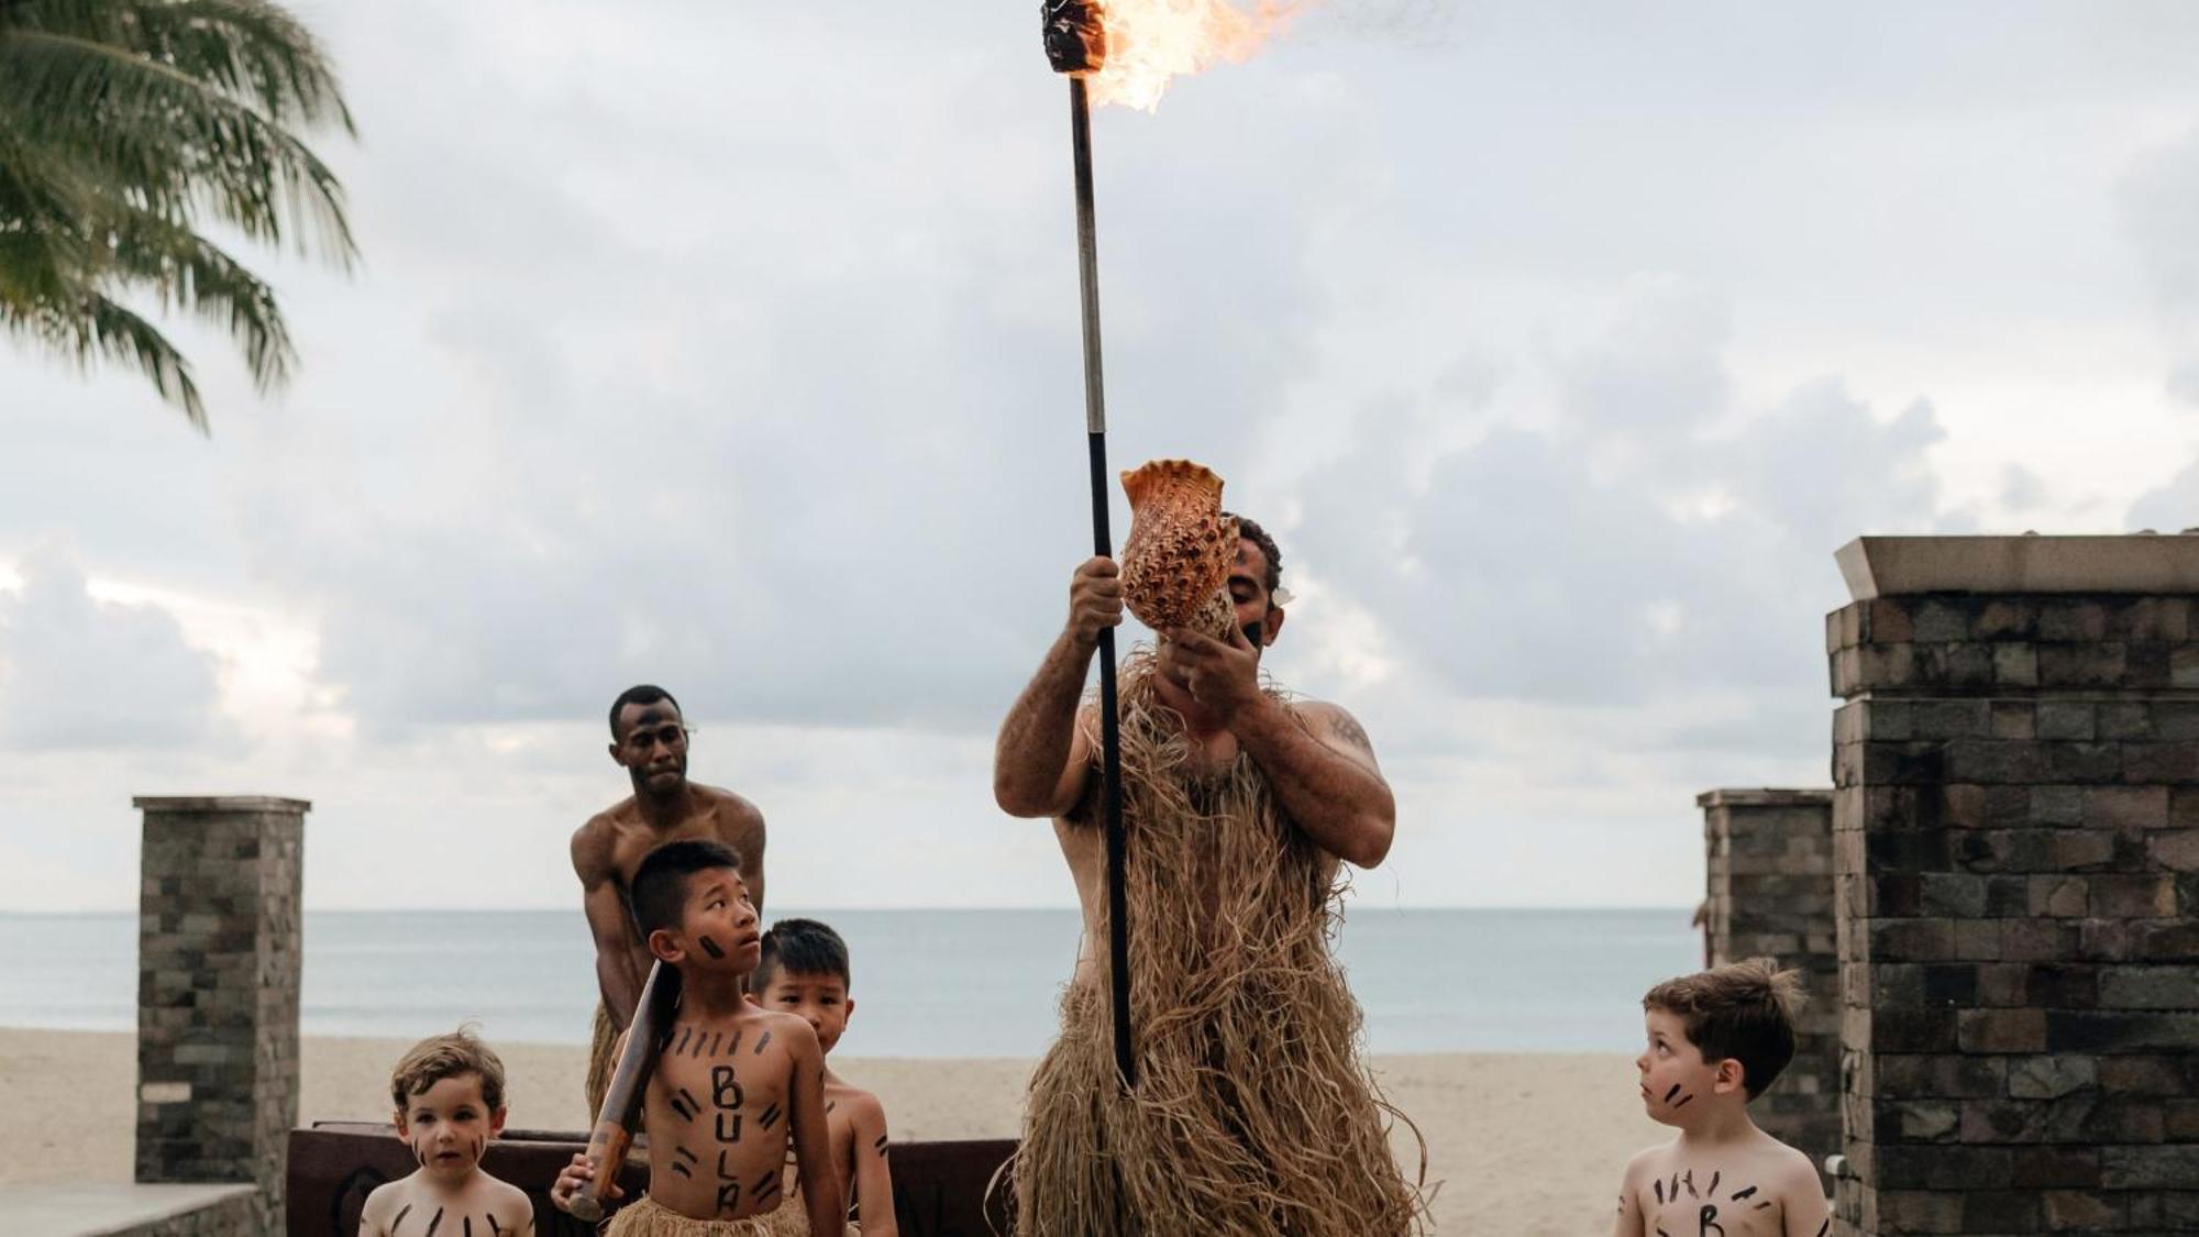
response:
<path id="1" fill-rule="evenodd" d="M 800 1017 L 831 1057 L 855 1015 L 849 995 L 847 942 L 816 920 L 778 920 L 763 933 L 763 962 L 748 982 L 748 999 Z M 840 1189 L 855 1200 L 862 1237 L 899 1237 L 893 1219 L 893 1171 L 886 1167 L 886 1107 L 825 1065 L 825 1120 L 831 1125 L 831 1167 Z"/>

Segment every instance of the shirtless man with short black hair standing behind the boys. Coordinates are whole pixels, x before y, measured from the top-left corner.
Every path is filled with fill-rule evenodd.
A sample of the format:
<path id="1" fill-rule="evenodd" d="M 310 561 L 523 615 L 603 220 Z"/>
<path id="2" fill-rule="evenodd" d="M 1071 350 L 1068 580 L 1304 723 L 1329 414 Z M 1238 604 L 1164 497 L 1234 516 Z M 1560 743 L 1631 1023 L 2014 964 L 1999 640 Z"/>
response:
<path id="1" fill-rule="evenodd" d="M 594 1048 L 587 1063 L 587 1112 L 603 1107 L 611 1081 L 611 1043 L 633 1019 L 649 977 L 649 946 L 627 913 L 627 885 L 642 856 L 677 839 L 730 845 L 741 856 L 741 880 L 763 913 L 763 812 L 732 790 L 688 781 L 688 729 L 679 702 L 662 687 L 640 685 L 611 702 L 611 762 L 627 770 L 633 795 L 589 817 L 572 834 L 572 869 L 581 878 L 581 907 L 596 938 Z"/>

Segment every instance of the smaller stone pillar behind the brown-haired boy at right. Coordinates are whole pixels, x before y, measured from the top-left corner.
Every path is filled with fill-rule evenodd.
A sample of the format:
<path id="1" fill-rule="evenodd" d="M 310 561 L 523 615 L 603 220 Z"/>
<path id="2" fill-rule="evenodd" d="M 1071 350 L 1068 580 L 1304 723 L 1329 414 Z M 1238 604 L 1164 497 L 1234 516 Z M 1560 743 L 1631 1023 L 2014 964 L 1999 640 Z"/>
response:
<path id="1" fill-rule="evenodd" d="M 1794 1061 L 1748 1112 L 1823 1173 L 1825 1158 L 1841 1151 L 1832 790 L 1709 790 L 1695 803 L 1709 863 L 1704 938 L 1711 964 L 1772 957 L 1801 971 L 1810 995 L 1794 1028 Z"/>

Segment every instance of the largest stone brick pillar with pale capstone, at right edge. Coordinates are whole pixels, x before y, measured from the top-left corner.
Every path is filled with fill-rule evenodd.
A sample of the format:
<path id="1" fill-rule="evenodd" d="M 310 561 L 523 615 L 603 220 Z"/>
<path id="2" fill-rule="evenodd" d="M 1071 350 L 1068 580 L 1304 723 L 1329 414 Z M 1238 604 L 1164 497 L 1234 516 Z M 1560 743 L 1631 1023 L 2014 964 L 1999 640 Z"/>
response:
<path id="1" fill-rule="evenodd" d="M 1867 537 L 1841 1235 L 2199 1230 L 2199 537 Z"/>

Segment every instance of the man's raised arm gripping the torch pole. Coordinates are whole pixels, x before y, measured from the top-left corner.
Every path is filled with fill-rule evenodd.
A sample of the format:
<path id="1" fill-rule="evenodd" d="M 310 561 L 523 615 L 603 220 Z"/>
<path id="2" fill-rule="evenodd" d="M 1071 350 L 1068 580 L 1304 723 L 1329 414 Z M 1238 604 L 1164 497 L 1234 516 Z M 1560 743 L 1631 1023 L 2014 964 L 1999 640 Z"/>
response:
<path id="1" fill-rule="evenodd" d="M 1038 674 L 1001 722 L 992 753 L 992 797 L 1009 817 L 1064 817 L 1084 792 L 1091 748 L 1078 700 L 1100 632 L 1121 623 L 1121 579 L 1113 559 L 1086 559 L 1069 581 L 1069 623 Z"/>

